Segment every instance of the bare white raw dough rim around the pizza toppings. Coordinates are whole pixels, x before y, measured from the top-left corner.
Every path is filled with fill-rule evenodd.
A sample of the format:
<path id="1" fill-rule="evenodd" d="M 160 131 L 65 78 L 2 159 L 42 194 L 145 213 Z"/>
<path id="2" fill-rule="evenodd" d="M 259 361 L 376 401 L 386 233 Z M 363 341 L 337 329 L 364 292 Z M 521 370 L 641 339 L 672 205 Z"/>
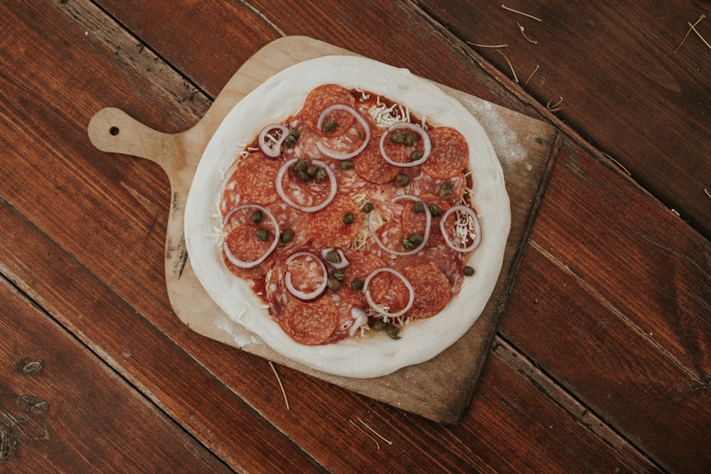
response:
<path id="1" fill-rule="evenodd" d="M 479 215 L 483 235 L 467 262 L 476 273 L 464 279 L 459 293 L 441 313 L 405 325 L 400 340 L 370 331 L 363 338 L 329 345 L 296 343 L 269 316 L 267 306 L 252 291 L 252 282 L 231 274 L 223 262 L 218 203 L 235 158 L 264 125 L 283 122 L 298 112 L 306 95 L 326 83 L 358 87 L 404 104 L 428 123 L 456 128 L 469 144 L 475 190 L 472 207 Z M 186 245 L 193 270 L 210 298 L 232 320 L 289 359 L 328 374 L 359 378 L 380 377 L 424 362 L 459 340 L 493 292 L 509 228 L 503 171 L 479 122 L 456 99 L 409 70 L 355 56 L 324 56 L 297 63 L 269 77 L 238 102 L 205 148 L 185 211 Z"/>

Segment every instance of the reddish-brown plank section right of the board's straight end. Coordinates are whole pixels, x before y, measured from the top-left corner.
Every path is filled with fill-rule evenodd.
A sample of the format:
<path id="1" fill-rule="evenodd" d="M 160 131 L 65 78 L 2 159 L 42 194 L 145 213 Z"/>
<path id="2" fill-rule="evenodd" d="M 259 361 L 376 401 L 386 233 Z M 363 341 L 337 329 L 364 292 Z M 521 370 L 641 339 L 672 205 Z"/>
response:
<path id="1" fill-rule="evenodd" d="M 500 330 L 665 469 L 703 472 L 711 244 L 607 175 L 563 146 Z"/>

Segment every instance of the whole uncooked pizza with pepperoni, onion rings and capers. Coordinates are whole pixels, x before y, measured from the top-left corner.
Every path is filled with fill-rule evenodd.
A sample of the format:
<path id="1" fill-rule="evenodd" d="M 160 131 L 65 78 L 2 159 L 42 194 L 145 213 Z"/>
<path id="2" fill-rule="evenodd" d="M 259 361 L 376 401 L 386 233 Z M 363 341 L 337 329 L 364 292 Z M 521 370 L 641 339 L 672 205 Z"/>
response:
<path id="1" fill-rule="evenodd" d="M 225 117 L 185 229 L 230 318 L 316 370 L 378 377 L 471 327 L 509 222 L 501 166 L 459 102 L 407 70 L 329 56 Z"/>

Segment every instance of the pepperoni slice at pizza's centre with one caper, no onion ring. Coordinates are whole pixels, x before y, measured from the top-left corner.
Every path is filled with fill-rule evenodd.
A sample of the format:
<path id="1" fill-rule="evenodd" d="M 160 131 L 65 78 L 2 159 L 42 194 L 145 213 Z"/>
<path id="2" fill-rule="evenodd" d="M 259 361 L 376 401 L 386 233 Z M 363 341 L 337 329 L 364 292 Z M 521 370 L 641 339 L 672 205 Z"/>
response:
<path id="1" fill-rule="evenodd" d="M 350 224 L 343 222 L 346 214 L 353 214 L 353 222 Z M 351 198 L 339 194 L 326 208 L 310 212 L 306 226 L 316 243 L 324 247 L 346 247 L 358 235 L 363 220 L 362 214 Z"/>

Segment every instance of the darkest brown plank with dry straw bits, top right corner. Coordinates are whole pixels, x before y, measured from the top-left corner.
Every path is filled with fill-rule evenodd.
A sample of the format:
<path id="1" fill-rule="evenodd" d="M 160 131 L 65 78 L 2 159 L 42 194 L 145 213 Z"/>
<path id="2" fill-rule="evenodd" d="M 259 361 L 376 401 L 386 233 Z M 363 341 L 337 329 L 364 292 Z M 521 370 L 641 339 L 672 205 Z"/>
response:
<path id="1" fill-rule="evenodd" d="M 538 22 L 502 9 L 501 2 L 418 4 L 463 41 L 508 45 L 472 47 L 510 79 L 515 74 L 514 89 L 540 104 L 562 99 L 550 107 L 560 108 L 560 119 L 711 238 L 704 192 L 711 192 L 709 50 L 692 33 L 675 53 L 688 22 L 709 16 L 707 5 L 694 0 L 606 2 L 587 9 L 556 0 L 506 4 Z M 697 28 L 711 37 L 708 19 Z"/>

